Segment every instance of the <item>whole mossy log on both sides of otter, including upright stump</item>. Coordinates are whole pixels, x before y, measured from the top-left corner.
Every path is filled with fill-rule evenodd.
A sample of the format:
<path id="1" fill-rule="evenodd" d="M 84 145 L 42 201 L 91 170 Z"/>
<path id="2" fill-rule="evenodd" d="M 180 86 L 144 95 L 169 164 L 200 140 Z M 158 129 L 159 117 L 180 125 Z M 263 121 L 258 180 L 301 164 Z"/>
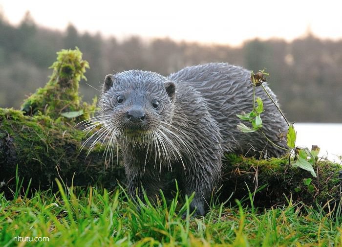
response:
<path id="1" fill-rule="evenodd" d="M 105 162 L 105 145 L 98 144 L 90 152 L 85 145 L 80 152 L 87 136 L 74 126 L 96 108 L 95 101 L 81 103 L 78 95 L 85 67 L 79 50 L 63 50 L 52 66 L 50 81 L 24 101 L 21 111 L 0 109 L 0 192 L 10 195 L 16 176 L 23 187 L 31 180 L 32 189 L 49 189 L 55 178 L 69 185 L 73 181 L 78 186 L 108 189 L 117 181 L 125 182 L 120 157 L 113 158 L 115 165 Z M 248 189 L 253 193 L 263 187 L 255 194 L 255 205 L 283 204 L 286 197 L 306 204 L 339 200 L 341 166 L 320 160 L 314 168 L 317 178 L 292 167 L 288 157 L 258 160 L 229 154 L 224 158 L 221 197 L 226 199 L 234 192 L 233 198 L 242 199 Z"/>

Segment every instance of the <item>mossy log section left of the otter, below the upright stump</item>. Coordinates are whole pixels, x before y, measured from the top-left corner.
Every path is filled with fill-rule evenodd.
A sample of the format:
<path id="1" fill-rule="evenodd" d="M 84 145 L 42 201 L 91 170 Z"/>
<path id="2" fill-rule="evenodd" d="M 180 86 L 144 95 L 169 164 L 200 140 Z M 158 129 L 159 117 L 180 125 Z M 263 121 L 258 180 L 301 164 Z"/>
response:
<path id="1" fill-rule="evenodd" d="M 55 178 L 67 184 L 73 180 L 74 185 L 98 182 L 107 188 L 123 181 L 123 167 L 105 168 L 106 144 L 93 150 L 85 145 L 81 151 L 86 138 L 82 130 L 48 115 L 0 108 L 0 181 L 6 184 L 0 193 L 15 188 L 17 167 L 23 185 L 30 183 L 31 188 L 48 189 Z"/>

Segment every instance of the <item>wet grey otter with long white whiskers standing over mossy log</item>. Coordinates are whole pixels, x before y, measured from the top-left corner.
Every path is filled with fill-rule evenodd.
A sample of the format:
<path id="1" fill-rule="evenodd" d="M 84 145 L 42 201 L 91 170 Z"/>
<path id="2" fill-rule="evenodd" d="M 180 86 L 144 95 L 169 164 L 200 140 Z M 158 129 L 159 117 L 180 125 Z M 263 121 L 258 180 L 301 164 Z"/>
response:
<path id="1" fill-rule="evenodd" d="M 250 85 L 250 71 L 227 63 L 185 67 L 167 77 L 141 70 L 107 75 L 98 119 L 111 151 L 112 143 L 121 147 L 129 194 L 142 196 L 143 187 L 155 197 L 166 183 L 165 173 L 173 172 L 185 194 L 195 192 L 190 209 L 205 215 L 224 153 L 283 155 L 287 146 L 277 134 L 286 132 L 287 124 L 260 87 L 263 132 L 278 147 L 259 132 L 236 128 L 241 122 L 236 114 L 253 108 Z"/>

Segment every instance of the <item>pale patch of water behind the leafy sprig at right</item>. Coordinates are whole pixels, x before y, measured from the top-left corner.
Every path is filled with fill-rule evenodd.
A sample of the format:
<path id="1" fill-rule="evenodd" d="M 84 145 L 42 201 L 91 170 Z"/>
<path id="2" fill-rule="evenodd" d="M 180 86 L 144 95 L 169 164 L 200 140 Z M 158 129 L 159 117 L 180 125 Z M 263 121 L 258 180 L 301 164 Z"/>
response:
<path id="1" fill-rule="evenodd" d="M 342 163 L 342 124 L 295 123 L 295 130 L 297 146 L 311 149 L 317 145 L 321 148 L 319 157 Z"/>

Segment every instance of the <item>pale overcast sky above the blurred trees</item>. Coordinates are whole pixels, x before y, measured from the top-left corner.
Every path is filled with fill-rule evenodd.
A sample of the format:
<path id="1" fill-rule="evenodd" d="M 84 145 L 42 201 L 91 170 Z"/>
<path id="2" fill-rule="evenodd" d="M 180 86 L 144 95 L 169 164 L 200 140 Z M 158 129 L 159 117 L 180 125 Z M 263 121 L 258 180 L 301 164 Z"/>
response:
<path id="1" fill-rule="evenodd" d="M 30 11 L 45 27 L 118 38 L 146 38 L 239 45 L 246 39 L 292 40 L 308 29 L 322 38 L 342 38 L 342 0 L 0 0 L 14 24 Z"/>

